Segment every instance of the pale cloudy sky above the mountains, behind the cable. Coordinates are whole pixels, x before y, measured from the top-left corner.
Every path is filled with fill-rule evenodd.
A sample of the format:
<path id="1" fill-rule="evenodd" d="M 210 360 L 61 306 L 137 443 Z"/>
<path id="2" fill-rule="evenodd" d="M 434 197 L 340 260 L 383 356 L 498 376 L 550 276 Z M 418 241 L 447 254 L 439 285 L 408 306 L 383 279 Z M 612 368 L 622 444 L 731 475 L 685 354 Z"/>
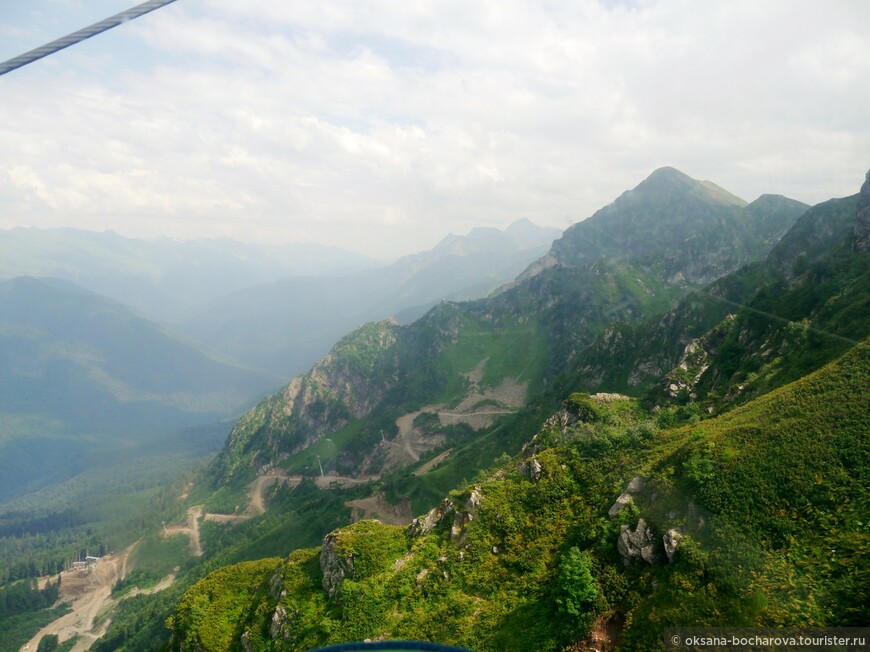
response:
<path id="1" fill-rule="evenodd" d="M 0 60 L 136 4 L 3 0 Z M 379 257 L 565 228 L 673 165 L 857 192 L 866 0 L 178 0 L 0 77 L 0 228 Z"/>

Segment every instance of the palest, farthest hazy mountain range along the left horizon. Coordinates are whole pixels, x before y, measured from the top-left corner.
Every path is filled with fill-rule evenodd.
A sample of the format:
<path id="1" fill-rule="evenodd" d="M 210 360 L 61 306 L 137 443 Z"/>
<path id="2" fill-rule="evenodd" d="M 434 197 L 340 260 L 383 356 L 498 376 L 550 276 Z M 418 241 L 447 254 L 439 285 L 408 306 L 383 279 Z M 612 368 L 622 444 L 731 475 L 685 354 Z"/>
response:
<path id="1" fill-rule="evenodd" d="M 77 229 L 0 230 L 0 280 L 61 278 L 169 322 L 243 288 L 286 276 L 338 276 L 376 264 L 318 244 L 140 240 Z"/>

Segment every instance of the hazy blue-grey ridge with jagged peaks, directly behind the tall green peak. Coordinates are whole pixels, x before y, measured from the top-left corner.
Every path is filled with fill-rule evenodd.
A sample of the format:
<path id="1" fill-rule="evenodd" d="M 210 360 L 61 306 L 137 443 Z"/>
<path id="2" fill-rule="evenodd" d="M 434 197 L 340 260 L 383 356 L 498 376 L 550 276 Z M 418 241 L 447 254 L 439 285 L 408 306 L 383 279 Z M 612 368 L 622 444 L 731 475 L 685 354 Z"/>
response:
<path id="1" fill-rule="evenodd" d="M 477 228 L 386 267 L 239 290 L 181 326 L 249 366 L 292 376 L 362 323 L 388 317 L 410 322 L 439 301 L 486 296 L 546 252 L 559 233 L 528 220 L 504 231 Z"/>

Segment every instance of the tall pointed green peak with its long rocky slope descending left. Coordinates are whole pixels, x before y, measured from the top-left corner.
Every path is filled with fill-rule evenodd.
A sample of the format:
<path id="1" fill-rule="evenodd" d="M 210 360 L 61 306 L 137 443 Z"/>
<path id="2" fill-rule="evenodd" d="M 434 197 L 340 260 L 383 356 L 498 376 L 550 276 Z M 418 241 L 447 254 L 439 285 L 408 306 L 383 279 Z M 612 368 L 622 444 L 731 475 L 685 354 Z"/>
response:
<path id="1" fill-rule="evenodd" d="M 237 424 L 216 477 L 225 480 L 228 469 L 250 477 L 275 465 L 357 475 L 407 466 L 443 441 L 427 440 L 416 427 L 403 431 L 401 420 L 419 411 L 438 415 L 445 427 L 469 426 L 466 439 L 485 437 L 570 370 L 610 324 L 661 313 L 709 276 L 763 255 L 804 208 L 770 197 L 744 206 L 709 183 L 658 170 L 569 229 L 541 265 L 495 296 L 442 303 L 411 325 L 389 327 L 390 337 L 376 347 L 366 329 L 359 347 L 348 336 L 311 374 Z M 692 228 L 697 237 L 681 241 Z M 614 256 L 617 250 L 623 254 Z M 348 356 L 363 364 L 343 365 Z M 478 419 L 482 413 L 489 418 Z M 446 437 L 456 440 L 460 432 Z M 328 449 L 285 461 L 324 438 Z M 447 465 L 467 466 L 459 460 Z"/>

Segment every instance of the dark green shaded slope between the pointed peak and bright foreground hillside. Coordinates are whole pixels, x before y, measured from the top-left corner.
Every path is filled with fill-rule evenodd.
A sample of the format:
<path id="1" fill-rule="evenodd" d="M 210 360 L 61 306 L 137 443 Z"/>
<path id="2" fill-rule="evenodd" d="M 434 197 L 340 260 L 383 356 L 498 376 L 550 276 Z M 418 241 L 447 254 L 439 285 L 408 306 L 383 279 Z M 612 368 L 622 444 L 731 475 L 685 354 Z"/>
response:
<path id="1" fill-rule="evenodd" d="M 618 324 L 578 357 L 575 387 L 716 408 L 819 368 L 870 333 L 870 259 L 855 245 L 858 196 L 808 210 L 761 263 L 641 324 Z M 870 201 L 870 200 L 868 200 Z M 729 316 L 730 315 L 730 316 Z"/>

